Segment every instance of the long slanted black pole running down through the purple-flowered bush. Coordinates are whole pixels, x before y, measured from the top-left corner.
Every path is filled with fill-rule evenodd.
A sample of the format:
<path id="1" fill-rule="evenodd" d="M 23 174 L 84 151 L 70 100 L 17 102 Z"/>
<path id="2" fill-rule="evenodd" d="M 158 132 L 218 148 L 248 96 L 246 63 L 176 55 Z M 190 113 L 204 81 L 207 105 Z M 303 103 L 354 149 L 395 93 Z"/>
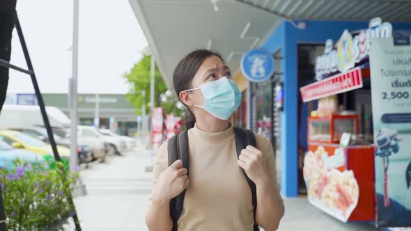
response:
<path id="1" fill-rule="evenodd" d="M 22 45 L 22 50 L 23 50 L 23 53 L 24 53 L 24 58 L 26 59 L 27 67 L 28 67 L 29 71 L 31 71 L 31 74 L 30 74 L 31 82 L 33 83 L 34 92 L 36 93 L 38 106 L 40 106 L 41 116 L 42 116 L 42 119 L 45 123 L 45 129 L 47 130 L 47 135 L 49 136 L 50 145 L 52 145 L 54 159 L 56 159 L 56 161 L 60 162 L 61 158 L 59 156 L 59 152 L 57 151 L 56 141 L 54 140 L 52 127 L 50 126 L 49 118 L 47 116 L 47 112 L 46 112 L 46 109 L 45 109 L 45 103 L 44 103 L 44 101 L 42 99 L 42 95 L 40 93 L 40 88 L 38 88 L 36 74 L 34 73 L 33 65 L 31 64 L 31 59 L 30 59 L 30 56 L 29 56 L 29 50 L 27 49 L 26 41 L 24 40 L 22 27 L 20 26 L 20 22 L 19 22 L 19 18 L 17 17 L 17 13 L 16 13 L 16 17 L 15 17 L 15 26 L 16 26 L 17 34 L 19 35 L 19 38 L 20 38 L 20 44 Z M 68 195 L 68 200 L 69 200 L 70 205 L 72 205 L 72 207 L 75 210 L 75 206 L 74 206 L 74 202 L 72 201 L 71 194 Z M 77 212 L 76 211 L 74 211 L 73 219 L 75 221 L 76 230 L 81 231 L 82 228 L 80 227 L 79 218 L 77 217 Z"/>

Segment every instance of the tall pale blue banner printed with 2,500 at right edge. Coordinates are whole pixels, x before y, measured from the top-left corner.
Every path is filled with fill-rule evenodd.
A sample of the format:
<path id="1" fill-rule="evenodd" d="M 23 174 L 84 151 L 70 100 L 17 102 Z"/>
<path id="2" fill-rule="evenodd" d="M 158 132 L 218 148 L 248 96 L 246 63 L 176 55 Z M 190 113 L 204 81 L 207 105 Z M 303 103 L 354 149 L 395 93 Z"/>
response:
<path id="1" fill-rule="evenodd" d="M 407 42 L 408 40 L 408 42 Z M 411 45 L 371 40 L 378 227 L 411 226 Z"/>

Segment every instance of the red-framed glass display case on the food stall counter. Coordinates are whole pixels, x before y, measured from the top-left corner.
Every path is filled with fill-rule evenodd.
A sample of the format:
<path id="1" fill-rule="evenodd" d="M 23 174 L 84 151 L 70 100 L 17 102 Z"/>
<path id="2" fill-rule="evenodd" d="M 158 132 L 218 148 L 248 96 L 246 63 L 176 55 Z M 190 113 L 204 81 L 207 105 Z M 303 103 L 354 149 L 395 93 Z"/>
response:
<path id="1" fill-rule="evenodd" d="M 344 132 L 358 134 L 357 115 L 332 114 L 329 117 L 309 117 L 308 141 L 339 143 Z"/>

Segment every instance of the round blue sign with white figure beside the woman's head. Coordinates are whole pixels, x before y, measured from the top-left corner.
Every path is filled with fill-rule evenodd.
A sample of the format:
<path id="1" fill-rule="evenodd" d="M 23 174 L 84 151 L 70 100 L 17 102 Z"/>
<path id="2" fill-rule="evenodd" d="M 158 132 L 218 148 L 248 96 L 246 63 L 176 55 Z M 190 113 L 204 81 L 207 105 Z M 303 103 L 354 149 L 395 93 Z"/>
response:
<path id="1" fill-rule="evenodd" d="M 240 68 L 249 81 L 262 82 L 274 73 L 274 58 L 263 49 L 251 49 L 242 56 Z"/>

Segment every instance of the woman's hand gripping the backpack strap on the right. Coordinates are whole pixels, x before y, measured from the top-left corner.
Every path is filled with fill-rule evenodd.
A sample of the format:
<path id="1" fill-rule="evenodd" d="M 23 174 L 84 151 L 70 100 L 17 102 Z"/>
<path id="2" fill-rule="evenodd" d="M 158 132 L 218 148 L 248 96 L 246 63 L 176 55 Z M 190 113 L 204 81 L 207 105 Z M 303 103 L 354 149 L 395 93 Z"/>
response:
<path id="1" fill-rule="evenodd" d="M 267 166 L 260 150 L 248 145 L 241 151 L 237 163 L 256 186 L 269 182 Z"/>

